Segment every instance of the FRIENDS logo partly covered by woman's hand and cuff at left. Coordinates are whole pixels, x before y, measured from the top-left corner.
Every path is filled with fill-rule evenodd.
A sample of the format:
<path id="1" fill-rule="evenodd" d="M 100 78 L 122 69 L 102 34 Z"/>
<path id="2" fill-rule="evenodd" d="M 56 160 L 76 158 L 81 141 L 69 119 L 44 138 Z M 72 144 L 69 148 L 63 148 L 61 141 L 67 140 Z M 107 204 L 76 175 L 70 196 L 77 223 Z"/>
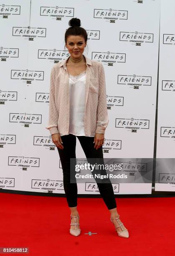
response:
<path id="1" fill-rule="evenodd" d="M 34 136 L 33 146 L 43 146 L 46 149 L 54 150 L 56 145 L 52 141 L 52 136 Z"/>

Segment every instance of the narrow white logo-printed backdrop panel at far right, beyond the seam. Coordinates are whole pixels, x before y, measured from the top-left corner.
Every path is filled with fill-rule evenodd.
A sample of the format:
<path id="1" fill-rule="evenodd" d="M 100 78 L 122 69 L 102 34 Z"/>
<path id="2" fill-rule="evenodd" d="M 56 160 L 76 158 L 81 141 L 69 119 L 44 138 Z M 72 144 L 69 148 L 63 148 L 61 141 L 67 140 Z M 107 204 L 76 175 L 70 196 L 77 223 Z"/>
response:
<path id="1" fill-rule="evenodd" d="M 161 2 L 155 190 L 175 191 L 175 1 Z"/>

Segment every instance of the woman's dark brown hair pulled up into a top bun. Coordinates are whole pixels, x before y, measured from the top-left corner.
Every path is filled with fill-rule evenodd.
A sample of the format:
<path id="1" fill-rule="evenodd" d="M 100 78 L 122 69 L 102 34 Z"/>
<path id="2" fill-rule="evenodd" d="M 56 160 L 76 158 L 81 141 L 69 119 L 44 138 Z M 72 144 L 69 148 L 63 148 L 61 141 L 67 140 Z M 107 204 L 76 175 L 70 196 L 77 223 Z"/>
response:
<path id="1" fill-rule="evenodd" d="M 81 20 L 78 18 L 71 18 L 69 20 L 68 25 L 70 26 L 66 29 L 66 33 L 64 36 L 65 43 L 67 42 L 68 36 L 83 36 L 85 42 L 87 41 L 87 32 L 84 28 L 81 27 Z"/>

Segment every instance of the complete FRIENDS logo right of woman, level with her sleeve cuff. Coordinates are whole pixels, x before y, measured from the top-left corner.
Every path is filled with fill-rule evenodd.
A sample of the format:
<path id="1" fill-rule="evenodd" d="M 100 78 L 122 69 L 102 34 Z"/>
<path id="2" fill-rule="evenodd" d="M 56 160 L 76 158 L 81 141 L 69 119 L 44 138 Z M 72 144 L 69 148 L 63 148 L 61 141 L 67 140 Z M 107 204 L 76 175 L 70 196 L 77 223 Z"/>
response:
<path id="1" fill-rule="evenodd" d="M 136 118 L 115 118 L 116 128 L 125 128 L 134 133 L 139 129 L 149 129 L 150 120 Z"/>

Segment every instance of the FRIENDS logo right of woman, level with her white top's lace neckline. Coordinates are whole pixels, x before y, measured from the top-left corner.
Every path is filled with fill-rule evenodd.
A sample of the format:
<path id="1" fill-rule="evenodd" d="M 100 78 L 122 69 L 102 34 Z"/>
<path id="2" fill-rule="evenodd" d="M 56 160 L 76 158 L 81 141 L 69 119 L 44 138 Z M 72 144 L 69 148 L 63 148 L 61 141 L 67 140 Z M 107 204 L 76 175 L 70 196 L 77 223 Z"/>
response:
<path id="1" fill-rule="evenodd" d="M 142 75 L 118 75 L 117 84 L 127 85 L 129 88 L 139 89 L 141 86 L 151 86 L 152 77 Z"/>

